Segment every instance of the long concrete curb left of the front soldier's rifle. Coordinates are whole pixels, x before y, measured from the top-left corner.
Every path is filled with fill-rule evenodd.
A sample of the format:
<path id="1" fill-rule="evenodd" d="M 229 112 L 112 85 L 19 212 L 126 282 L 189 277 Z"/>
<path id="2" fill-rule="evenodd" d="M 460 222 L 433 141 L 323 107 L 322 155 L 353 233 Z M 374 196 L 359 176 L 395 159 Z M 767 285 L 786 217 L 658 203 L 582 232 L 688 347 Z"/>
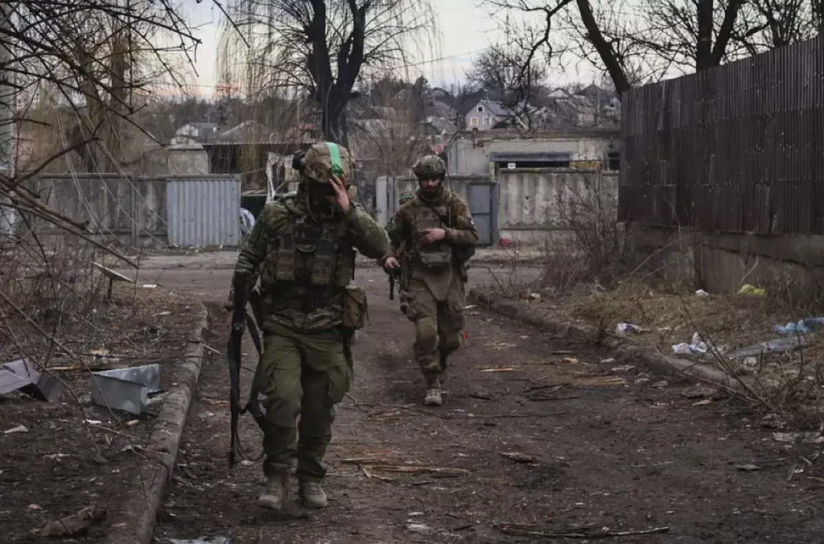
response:
<path id="1" fill-rule="evenodd" d="M 110 528 L 106 538 L 110 544 L 150 544 L 157 513 L 160 510 L 166 486 L 175 469 L 180 438 L 186 424 L 186 415 L 203 367 L 204 332 L 208 330 L 208 309 L 202 303 L 198 310 L 199 323 L 193 336 L 187 338 L 183 363 L 178 369 L 177 385 L 163 402 L 146 450 L 147 465 L 140 468 L 138 481 L 121 504 L 122 512 Z"/>

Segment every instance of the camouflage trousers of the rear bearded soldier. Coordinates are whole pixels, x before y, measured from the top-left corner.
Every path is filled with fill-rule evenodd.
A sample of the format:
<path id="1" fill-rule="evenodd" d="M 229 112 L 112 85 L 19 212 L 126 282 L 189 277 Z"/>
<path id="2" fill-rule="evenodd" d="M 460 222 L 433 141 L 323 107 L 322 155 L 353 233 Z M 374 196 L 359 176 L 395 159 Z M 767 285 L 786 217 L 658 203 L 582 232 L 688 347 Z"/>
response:
<path id="1" fill-rule="evenodd" d="M 464 284 L 456 281 L 446 300 L 438 300 L 424 281 L 410 281 L 407 287 L 409 309 L 406 317 L 414 323 L 414 359 L 421 372 L 440 374 L 452 351 L 462 345 L 466 326 Z"/>

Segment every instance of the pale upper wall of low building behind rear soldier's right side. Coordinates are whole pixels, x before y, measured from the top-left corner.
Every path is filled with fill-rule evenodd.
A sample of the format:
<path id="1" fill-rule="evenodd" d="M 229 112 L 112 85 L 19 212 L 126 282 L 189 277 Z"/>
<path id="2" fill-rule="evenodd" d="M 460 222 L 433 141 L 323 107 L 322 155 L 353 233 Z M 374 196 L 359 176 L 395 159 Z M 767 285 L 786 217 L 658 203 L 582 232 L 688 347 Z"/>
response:
<path id="1" fill-rule="evenodd" d="M 612 148 L 610 148 L 612 145 Z M 553 137 L 500 138 L 488 133 L 467 135 L 447 149 L 451 175 L 489 174 L 490 153 L 569 153 L 573 160 L 606 160 L 609 151 L 620 151 L 620 137 L 587 136 L 585 133 L 558 133 Z"/>

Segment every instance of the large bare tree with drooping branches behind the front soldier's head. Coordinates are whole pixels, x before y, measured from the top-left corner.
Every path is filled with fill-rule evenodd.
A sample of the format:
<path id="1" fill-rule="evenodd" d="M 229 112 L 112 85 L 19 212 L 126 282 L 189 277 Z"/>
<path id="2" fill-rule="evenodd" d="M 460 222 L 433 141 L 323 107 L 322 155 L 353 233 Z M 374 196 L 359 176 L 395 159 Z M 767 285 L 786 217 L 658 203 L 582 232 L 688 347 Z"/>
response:
<path id="1" fill-rule="evenodd" d="M 224 35 L 225 83 L 301 91 L 324 137 L 343 144 L 358 77 L 408 64 L 405 50 L 434 28 L 429 0 L 230 0 L 227 11 L 245 41 Z"/>

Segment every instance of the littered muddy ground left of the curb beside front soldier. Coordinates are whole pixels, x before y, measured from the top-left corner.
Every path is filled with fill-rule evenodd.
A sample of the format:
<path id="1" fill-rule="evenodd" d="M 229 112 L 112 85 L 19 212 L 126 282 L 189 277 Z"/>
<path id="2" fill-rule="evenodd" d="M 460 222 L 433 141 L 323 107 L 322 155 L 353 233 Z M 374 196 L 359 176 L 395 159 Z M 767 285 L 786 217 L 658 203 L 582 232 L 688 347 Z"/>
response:
<path id="1" fill-rule="evenodd" d="M 165 393 L 152 395 L 140 416 L 112 411 L 91 403 L 89 369 L 157 363 L 161 387 L 168 391 L 194 331 L 197 307 L 185 296 L 119 285 L 94 313 L 65 313 L 64 323 L 48 323 L 73 357 L 35 332 L 18 331 L 16 342 L 0 335 L 4 359 L 22 351 L 67 387 L 58 402 L 19 392 L 0 396 L 0 542 L 44 542 L 33 529 L 87 506 L 105 509 L 108 518 L 82 537 L 49 540 L 103 542 L 105 525 L 119 514 L 119 500 L 137 492 L 129 489 L 146 462 L 141 447 Z"/>

